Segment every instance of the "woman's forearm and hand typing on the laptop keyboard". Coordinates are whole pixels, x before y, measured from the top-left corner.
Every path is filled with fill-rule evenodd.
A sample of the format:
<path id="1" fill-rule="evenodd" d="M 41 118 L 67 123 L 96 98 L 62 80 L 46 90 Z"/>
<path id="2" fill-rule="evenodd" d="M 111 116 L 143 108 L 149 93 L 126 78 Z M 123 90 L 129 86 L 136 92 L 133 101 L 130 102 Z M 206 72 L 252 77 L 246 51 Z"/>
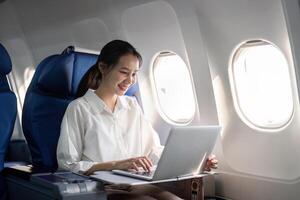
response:
<path id="1" fill-rule="evenodd" d="M 130 159 L 120 160 L 120 161 L 98 163 L 93 165 L 90 169 L 88 169 L 84 173 L 84 175 L 89 176 L 93 174 L 95 171 L 108 171 L 113 169 L 139 171 L 139 169 L 142 168 L 143 170 L 149 172 L 152 166 L 153 164 L 150 161 L 150 159 L 148 159 L 146 156 L 141 156 L 141 157 L 130 158 Z"/>

